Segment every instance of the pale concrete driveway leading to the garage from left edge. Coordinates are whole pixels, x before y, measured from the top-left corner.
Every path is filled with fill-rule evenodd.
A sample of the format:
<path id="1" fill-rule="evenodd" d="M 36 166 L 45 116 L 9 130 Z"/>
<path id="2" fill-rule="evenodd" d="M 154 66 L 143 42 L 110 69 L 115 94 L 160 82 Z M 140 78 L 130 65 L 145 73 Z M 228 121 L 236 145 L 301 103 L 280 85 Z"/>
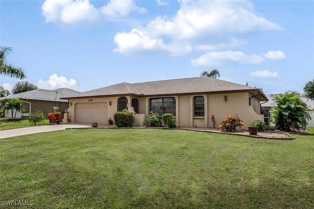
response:
<path id="1" fill-rule="evenodd" d="M 58 130 L 65 130 L 65 129 L 71 129 L 71 128 L 86 128 L 86 127 L 91 127 L 91 125 L 82 124 L 82 123 L 68 123 L 68 124 L 58 124 L 58 125 L 32 126 L 32 127 L 27 127 L 27 128 L 0 131 L 0 139 L 9 138 L 9 137 L 17 137 L 17 136 L 22 136 L 22 135 L 27 135 L 27 134 L 58 131 Z"/>

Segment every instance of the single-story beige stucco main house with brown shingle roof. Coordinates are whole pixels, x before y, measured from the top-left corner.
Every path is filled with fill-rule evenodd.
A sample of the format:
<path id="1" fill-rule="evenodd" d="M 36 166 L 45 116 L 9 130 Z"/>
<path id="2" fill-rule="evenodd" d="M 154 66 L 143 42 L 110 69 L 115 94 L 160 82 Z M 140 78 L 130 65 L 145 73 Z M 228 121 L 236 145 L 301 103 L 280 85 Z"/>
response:
<path id="1" fill-rule="evenodd" d="M 69 99 L 71 122 L 107 124 L 115 112 L 128 108 L 136 113 L 137 126 L 154 111 L 173 114 L 181 127 L 213 127 L 212 115 L 218 127 L 236 114 L 247 126 L 250 120 L 264 119 L 260 102 L 268 101 L 260 89 L 210 77 L 120 83 L 62 99 Z"/>

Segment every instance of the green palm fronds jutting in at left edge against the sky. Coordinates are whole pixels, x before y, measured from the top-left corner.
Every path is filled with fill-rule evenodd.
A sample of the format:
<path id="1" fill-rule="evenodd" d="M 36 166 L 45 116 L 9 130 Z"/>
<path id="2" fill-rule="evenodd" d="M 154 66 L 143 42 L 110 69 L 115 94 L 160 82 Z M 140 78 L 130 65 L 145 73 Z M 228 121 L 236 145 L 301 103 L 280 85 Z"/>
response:
<path id="1" fill-rule="evenodd" d="M 15 77 L 19 79 L 26 78 L 24 70 L 22 70 L 21 68 L 16 68 L 12 64 L 7 63 L 5 58 L 10 51 L 12 51 L 12 47 L 0 46 L 0 75 Z"/>

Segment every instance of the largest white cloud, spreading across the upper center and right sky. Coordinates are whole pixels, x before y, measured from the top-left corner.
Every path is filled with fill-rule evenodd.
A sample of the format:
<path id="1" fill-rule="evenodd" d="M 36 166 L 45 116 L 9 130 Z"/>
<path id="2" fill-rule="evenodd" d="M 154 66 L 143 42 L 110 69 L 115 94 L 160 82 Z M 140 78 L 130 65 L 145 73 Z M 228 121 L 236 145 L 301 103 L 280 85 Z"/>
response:
<path id="1" fill-rule="evenodd" d="M 232 40 L 235 34 L 282 29 L 277 23 L 258 16 L 254 11 L 253 3 L 249 1 L 180 0 L 179 2 L 181 8 L 173 17 L 156 17 L 145 27 L 133 28 L 123 34 L 127 36 L 134 29 L 145 31 L 147 39 L 161 40 L 166 46 L 164 50 L 171 52 L 169 48 L 182 48 L 182 46 L 195 50 L 221 47 L 219 44 L 225 43 L 219 43 L 217 40 Z M 145 42 L 146 39 L 142 41 Z M 124 53 L 125 51 L 121 49 L 125 48 L 125 42 L 122 39 L 115 42 L 118 46 L 116 51 Z M 156 49 L 159 50 L 160 47 L 156 45 Z M 129 46 L 128 54 L 131 54 L 132 50 L 146 49 L 139 49 L 138 45 Z M 219 49 L 215 48 L 215 50 Z M 185 52 L 189 51 L 191 50 Z"/>

